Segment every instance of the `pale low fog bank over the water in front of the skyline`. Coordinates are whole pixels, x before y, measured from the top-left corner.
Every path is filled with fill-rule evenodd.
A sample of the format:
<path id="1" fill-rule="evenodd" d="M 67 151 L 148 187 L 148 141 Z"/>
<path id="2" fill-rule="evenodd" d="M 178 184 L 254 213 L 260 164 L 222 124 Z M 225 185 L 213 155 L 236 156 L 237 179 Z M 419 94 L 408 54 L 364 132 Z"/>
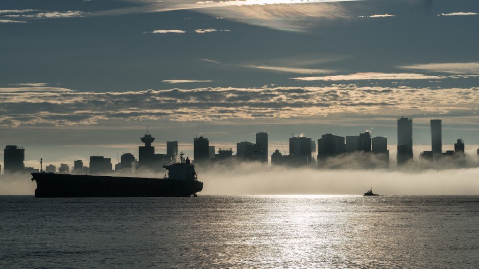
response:
<path id="1" fill-rule="evenodd" d="M 381 195 L 479 195 L 479 168 L 474 166 L 475 162 L 469 162 L 466 168 L 457 168 L 445 159 L 441 163 L 448 165 L 440 170 L 420 168 L 419 162 L 412 162 L 404 169 L 394 167 L 388 170 L 358 169 L 361 166 L 354 162 L 357 159 L 348 154 L 327 162 L 334 165 L 349 163 L 349 169 L 275 166 L 268 169 L 255 162 L 196 167 L 198 179 L 204 182 L 199 195 L 362 195 L 371 187 Z M 163 178 L 165 173 L 166 170 L 138 169 L 112 175 Z M 31 181 L 29 174 L 2 175 L 0 178 L 2 195 L 33 195 L 35 188 L 36 183 Z"/>

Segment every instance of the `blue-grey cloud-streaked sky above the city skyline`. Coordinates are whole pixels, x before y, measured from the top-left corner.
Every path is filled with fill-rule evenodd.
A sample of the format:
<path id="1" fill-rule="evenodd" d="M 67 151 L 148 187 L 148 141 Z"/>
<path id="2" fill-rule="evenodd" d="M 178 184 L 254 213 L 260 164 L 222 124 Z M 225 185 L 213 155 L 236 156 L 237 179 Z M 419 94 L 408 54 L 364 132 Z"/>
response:
<path id="1" fill-rule="evenodd" d="M 0 146 L 36 165 L 267 131 L 479 145 L 475 0 L 3 0 Z M 448 148 L 449 147 L 449 148 Z M 287 150 L 287 149 L 286 149 Z M 271 154 L 272 152 L 270 152 Z M 3 160 L 3 156 L 0 156 Z M 38 165 L 37 165 L 38 166 Z"/>

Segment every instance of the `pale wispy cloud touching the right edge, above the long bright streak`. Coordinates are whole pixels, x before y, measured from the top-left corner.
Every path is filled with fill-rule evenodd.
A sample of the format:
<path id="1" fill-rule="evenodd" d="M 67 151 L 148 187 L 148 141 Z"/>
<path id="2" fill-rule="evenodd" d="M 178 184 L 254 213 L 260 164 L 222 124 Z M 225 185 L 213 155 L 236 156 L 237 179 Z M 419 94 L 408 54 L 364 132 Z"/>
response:
<path id="1" fill-rule="evenodd" d="M 427 63 L 398 66 L 402 69 L 424 70 L 449 74 L 479 74 L 479 62 L 470 63 Z"/>

